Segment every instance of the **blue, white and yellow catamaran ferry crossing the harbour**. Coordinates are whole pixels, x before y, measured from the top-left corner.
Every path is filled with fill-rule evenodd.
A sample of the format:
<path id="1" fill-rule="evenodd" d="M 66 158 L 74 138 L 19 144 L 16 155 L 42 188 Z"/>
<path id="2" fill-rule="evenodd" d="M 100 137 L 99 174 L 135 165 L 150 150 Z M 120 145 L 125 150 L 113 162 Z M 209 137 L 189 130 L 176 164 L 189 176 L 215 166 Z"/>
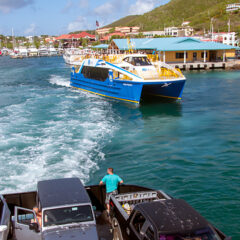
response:
<path id="1" fill-rule="evenodd" d="M 163 62 L 144 54 L 125 55 L 113 63 L 89 58 L 73 67 L 70 85 L 104 97 L 140 103 L 147 96 L 181 99 L 186 78 Z"/>

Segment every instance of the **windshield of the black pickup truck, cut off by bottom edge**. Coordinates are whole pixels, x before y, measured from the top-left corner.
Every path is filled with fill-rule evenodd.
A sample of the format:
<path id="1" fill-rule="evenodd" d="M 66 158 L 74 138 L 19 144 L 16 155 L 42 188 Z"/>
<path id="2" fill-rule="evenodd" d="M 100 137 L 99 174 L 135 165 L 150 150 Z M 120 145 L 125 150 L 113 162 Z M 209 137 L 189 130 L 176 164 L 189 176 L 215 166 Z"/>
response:
<path id="1" fill-rule="evenodd" d="M 207 228 L 185 236 L 183 234 L 159 234 L 159 240 L 220 240 L 220 238 L 212 229 Z"/>

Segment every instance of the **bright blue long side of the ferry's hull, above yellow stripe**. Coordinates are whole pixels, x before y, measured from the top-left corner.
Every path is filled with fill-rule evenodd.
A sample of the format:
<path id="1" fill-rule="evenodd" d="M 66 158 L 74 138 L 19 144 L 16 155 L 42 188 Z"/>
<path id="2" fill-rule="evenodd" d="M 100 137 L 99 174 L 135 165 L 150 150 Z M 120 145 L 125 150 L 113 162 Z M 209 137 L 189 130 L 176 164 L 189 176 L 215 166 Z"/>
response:
<path id="1" fill-rule="evenodd" d="M 70 85 L 74 88 L 100 96 L 139 103 L 143 84 L 133 81 L 109 80 L 98 81 L 85 78 L 83 74 L 72 73 Z"/>

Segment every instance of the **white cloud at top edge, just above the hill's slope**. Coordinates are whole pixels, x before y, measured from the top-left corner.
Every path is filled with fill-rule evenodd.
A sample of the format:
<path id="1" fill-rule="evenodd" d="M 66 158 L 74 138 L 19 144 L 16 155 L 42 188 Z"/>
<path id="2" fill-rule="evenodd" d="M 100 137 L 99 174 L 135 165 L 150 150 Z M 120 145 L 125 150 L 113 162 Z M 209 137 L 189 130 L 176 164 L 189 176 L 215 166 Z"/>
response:
<path id="1" fill-rule="evenodd" d="M 130 15 L 140 15 L 145 12 L 149 12 L 156 7 L 156 4 L 160 1 L 157 0 L 137 0 L 136 3 L 130 5 L 129 14 Z"/>

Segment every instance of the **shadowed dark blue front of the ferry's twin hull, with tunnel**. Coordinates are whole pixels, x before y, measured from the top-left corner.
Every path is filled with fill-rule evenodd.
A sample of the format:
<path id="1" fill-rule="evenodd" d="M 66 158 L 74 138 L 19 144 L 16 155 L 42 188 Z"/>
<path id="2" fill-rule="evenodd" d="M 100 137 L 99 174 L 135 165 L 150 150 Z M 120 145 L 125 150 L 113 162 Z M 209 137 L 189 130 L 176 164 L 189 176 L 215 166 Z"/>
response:
<path id="1" fill-rule="evenodd" d="M 185 80 L 144 84 L 142 89 L 142 98 L 148 95 L 171 99 L 181 99 L 184 85 Z"/>

